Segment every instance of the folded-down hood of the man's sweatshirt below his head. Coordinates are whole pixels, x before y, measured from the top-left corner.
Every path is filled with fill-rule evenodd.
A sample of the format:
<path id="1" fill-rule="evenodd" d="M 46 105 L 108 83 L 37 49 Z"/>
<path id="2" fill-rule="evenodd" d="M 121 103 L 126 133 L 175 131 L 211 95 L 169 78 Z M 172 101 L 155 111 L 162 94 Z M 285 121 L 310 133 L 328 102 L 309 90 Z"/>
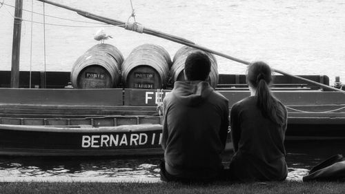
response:
<path id="1" fill-rule="evenodd" d="M 187 106 L 197 106 L 204 101 L 213 88 L 206 81 L 175 81 L 172 94 Z"/>

